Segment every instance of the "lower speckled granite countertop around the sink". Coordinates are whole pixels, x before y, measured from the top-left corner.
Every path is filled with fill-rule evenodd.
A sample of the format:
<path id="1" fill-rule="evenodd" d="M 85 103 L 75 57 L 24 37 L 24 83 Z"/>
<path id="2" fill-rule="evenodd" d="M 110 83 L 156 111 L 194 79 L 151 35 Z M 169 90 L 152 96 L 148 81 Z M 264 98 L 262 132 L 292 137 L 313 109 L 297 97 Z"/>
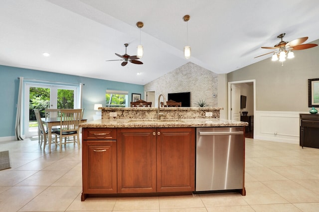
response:
<path id="1" fill-rule="evenodd" d="M 220 118 L 189 119 L 100 119 L 81 123 L 83 128 L 140 128 L 140 127 L 217 127 L 248 126 L 248 122 Z"/>

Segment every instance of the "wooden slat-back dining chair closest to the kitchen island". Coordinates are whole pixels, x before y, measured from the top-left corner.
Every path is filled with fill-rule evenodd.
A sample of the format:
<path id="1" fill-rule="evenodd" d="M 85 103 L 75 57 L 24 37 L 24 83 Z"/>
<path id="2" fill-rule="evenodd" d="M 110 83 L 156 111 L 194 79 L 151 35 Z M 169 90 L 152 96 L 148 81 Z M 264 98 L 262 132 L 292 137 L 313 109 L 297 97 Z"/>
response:
<path id="1" fill-rule="evenodd" d="M 55 140 L 58 141 L 60 152 L 62 151 L 62 140 L 64 138 L 64 147 L 67 143 L 77 142 L 80 149 L 80 128 L 79 123 L 82 119 L 82 109 L 60 109 L 59 113 L 60 128 L 55 131 Z M 68 137 L 73 137 L 73 140 L 67 140 Z M 56 146 L 57 147 L 57 146 Z"/>

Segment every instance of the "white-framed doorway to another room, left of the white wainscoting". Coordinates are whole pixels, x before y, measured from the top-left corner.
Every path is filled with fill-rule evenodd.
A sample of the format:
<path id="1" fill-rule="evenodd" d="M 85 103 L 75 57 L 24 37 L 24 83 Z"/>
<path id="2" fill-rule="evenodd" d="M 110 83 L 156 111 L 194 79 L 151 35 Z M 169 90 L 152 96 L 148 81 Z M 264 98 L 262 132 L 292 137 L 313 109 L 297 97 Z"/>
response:
<path id="1" fill-rule="evenodd" d="M 240 108 L 240 96 L 247 97 L 245 108 Z M 239 110 L 239 114 L 238 114 Z M 243 117 L 243 111 L 248 112 L 247 116 Z M 254 114 L 256 112 L 256 80 L 234 81 L 228 82 L 228 119 L 241 120 L 249 122 L 249 127 L 246 127 L 246 136 L 253 138 L 254 134 Z M 239 116 L 239 117 L 238 117 Z M 247 121 L 249 120 L 249 121 Z"/>

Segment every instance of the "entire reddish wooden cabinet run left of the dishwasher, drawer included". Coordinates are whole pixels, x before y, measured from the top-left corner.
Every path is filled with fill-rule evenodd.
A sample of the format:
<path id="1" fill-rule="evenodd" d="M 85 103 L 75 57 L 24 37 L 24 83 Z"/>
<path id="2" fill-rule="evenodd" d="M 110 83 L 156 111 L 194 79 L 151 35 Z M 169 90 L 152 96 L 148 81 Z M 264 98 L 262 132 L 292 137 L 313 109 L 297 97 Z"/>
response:
<path id="1" fill-rule="evenodd" d="M 192 192 L 195 128 L 83 128 L 88 194 Z"/>

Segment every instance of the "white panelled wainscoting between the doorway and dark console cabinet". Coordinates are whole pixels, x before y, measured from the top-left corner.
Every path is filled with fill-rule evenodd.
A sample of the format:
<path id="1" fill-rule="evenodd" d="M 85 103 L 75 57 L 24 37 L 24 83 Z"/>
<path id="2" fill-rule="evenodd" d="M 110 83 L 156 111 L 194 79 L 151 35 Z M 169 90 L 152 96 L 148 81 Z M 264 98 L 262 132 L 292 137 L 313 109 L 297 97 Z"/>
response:
<path id="1" fill-rule="evenodd" d="M 254 139 L 299 144 L 300 113 L 304 112 L 256 111 Z"/>

